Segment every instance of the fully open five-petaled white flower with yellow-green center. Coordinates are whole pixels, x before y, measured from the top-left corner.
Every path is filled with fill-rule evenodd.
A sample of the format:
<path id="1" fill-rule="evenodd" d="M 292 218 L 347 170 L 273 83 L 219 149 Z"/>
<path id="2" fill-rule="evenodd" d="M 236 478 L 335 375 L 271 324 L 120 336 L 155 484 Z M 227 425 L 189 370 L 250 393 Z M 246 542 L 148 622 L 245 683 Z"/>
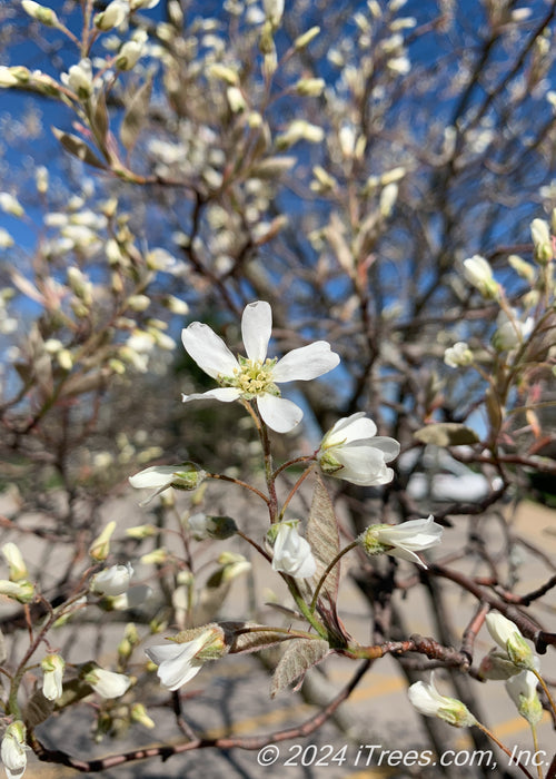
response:
<path id="1" fill-rule="evenodd" d="M 247 357 L 236 358 L 224 341 L 207 325 L 193 322 L 181 332 L 186 352 L 197 365 L 219 383 L 217 389 L 182 395 L 183 403 L 215 398 L 229 403 L 256 400 L 259 413 L 277 433 L 287 433 L 302 418 L 302 411 L 291 401 L 280 397 L 276 384 L 309 381 L 335 368 L 337 354 L 326 341 L 289 352 L 281 359 L 267 359 L 272 328 L 268 303 L 258 300 L 246 306 L 241 317 L 241 335 Z"/>

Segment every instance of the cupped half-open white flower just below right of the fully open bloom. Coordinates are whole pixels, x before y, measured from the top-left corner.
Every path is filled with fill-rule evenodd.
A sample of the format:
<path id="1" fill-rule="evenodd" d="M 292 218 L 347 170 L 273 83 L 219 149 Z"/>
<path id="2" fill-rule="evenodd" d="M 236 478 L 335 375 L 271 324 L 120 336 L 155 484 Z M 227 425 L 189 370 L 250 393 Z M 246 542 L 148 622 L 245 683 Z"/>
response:
<path id="1" fill-rule="evenodd" d="M 364 412 L 338 420 L 317 452 L 324 473 L 366 486 L 391 482 L 394 471 L 386 463 L 398 456 L 399 444 L 376 432 L 376 424 Z"/>

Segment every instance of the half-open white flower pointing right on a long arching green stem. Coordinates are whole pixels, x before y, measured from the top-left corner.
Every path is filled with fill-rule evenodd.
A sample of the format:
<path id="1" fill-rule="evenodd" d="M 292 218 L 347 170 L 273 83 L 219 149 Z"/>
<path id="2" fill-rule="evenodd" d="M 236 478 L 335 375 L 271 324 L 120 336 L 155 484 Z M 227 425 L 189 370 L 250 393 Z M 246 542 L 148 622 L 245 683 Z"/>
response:
<path id="1" fill-rule="evenodd" d="M 441 534 L 441 525 L 430 515 L 426 520 L 410 520 L 399 525 L 370 525 L 359 536 L 359 543 L 369 556 L 389 554 L 427 568 L 415 552 L 440 543 Z"/>

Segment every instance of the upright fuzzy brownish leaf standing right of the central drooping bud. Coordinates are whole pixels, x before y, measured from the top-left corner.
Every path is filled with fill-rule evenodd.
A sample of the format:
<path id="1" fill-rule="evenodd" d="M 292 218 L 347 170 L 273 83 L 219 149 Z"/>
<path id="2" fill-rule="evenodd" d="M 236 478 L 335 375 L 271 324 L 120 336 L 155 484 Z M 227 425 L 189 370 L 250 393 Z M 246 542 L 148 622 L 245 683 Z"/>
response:
<path id="1" fill-rule="evenodd" d="M 328 564 L 340 551 L 338 522 L 334 513 L 330 496 L 320 476 L 317 476 L 315 492 L 312 493 L 311 509 L 307 524 L 307 541 L 310 544 L 312 556 L 317 562 L 317 572 L 314 576 L 315 585 L 320 581 Z M 325 580 L 321 594 L 326 594 L 334 603 L 338 593 L 340 580 L 339 563 L 332 568 Z"/>

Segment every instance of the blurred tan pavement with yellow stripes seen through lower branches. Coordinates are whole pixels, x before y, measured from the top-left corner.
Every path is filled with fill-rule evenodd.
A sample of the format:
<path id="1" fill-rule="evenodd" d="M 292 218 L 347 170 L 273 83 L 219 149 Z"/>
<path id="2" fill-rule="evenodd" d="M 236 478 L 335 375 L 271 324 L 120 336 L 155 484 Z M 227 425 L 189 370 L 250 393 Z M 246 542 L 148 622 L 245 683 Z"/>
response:
<path id="1" fill-rule="evenodd" d="M 133 513 L 135 515 L 135 513 Z M 137 516 L 135 516 L 137 522 Z M 523 504 L 515 520 L 518 532 L 526 535 L 533 542 L 540 543 L 546 555 L 556 561 L 556 512 L 545 510 L 532 504 Z M 495 531 L 496 534 L 496 531 Z M 457 531 L 450 532 L 449 543 L 459 543 Z M 493 539 L 493 545 L 500 539 Z M 445 551 L 445 550 L 443 550 Z M 546 569 L 528 552 L 522 552 L 523 581 L 518 586 L 519 592 L 534 589 L 546 580 Z M 266 574 L 256 571 L 256 576 L 266 583 Z M 445 594 L 449 611 L 457 614 L 460 624 L 465 624 L 470 615 L 474 602 L 463 598 L 449 583 L 445 586 Z M 239 604 L 246 593 L 238 582 L 234 603 Z M 555 629 L 556 608 L 555 599 L 547 596 L 537 613 L 547 625 Z M 407 615 L 409 632 L 434 634 L 435 630 L 427 619 L 426 604 L 417 593 L 410 593 L 404 612 Z M 368 607 L 357 588 L 345 576 L 341 585 L 340 613 L 345 618 L 348 630 L 359 640 L 365 641 L 367 635 Z M 121 630 L 121 629 L 119 629 Z M 87 644 L 91 637 L 86 633 L 81 641 Z M 492 645 L 488 637 L 481 632 L 477 650 L 487 651 Z M 543 670 L 547 677 L 556 678 L 555 652 L 543 659 Z M 330 696 L 346 683 L 354 672 L 354 664 L 340 659 L 330 659 L 322 665 L 322 671 L 314 673 L 317 691 Z M 322 676 L 326 674 L 326 679 Z M 296 724 L 307 720 L 316 712 L 314 706 L 304 702 L 299 696 L 285 692 L 270 701 L 268 697 L 269 678 L 255 655 L 228 657 L 217 663 L 206 665 L 191 682 L 187 692 L 196 692 L 190 703 L 186 703 L 186 717 L 190 723 L 215 737 L 219 734 L 251 736 L 270 733 L 286 726 Z M 503 682 L 490 682 L 488 686 L 476 684 L 477 694 L 489 714 L 489 724 L 495 734 L 510 749 L 515 747 L 532 749 L 526 721 L 517 716 L 504 690 Z M 161 738 L 180 742 L 180 734 L 171 724 L 171 718 L 163 710 L 151 712 L 157 721 L 156 731 L 142 731 L 136 729 L 133 739 L 123 742 L 105 741 L 90 750 L 89 728 L 90 720 L 87 713 L 75 717 L 69 712 L 60 717 L 52 728 L 52 746 L 68 749 L 79 757 L 103 756 L 110 752 L 122 751 L 139 745 L 147 746 Z M 168 762 L 158 760 L 137 762 L 122 766 L 118 769 L 105 771 L 101 776 L 110 779 L 158 779 L 167 777 L 212 777 L 227 776 L 255 778 L 262 776 L 282 776 L 288 779 L 315 778 L 340 779 L 350 777 L 399 777 L 424 776 L 416 768 L 404 767 L 367 767 L 367 760 L 374 749 L 374 760 L 384 750 L 399 749 L 403 756 L 410 755 L 410 750 L 426 748 L 426 736 L 423 723 L 407 704 L 406 683 L 398 667 L 391 659 L 385 659 L 376 664 L 369 672 L 349 701 L 340 709 L 339 730 L 334 722 L 327 722 L 324 728 L 304 739 L 295 739 L 279 745 L 279 757 L 274 765 L 261 766 L 257 761 L 257 752 L 245 750 L 231 750 L 222 753 L 215 750 L 202 750 L 188 755 L 172 757 Z M 444 727 L 444 726 L 443 726 Z M 71 731 L 70 738 L 67 733 Z M 456 741 L 453 737 L 456 736 Z M 447 743 L 455 745 L 457 750 L 469 748 L 469 740 L 465 731 L 455 731 L 446 726 Z M 554 731 L 552 730 L 547 714 L 539 728 L 540 748 L 554 751 Z M 344 749 L 345 746 L 345 749 Z M 265 755 L 270 755 L 266 752 Z M 500 757 L 500 765 L 506 758 Z M 265 756 L 262 756 L 264 758 Z M 270 760 L 270 758 L 268 758 Z M 386 758 L 384 758 L 385 760 Z M 463 760 L 463 758 L 459 758 Z M 534 772 L 534 771 L 533 771 Z M 29 777 L 42 779 L 76 777 L 78 773 L 70 769 L 37 765 L 31 756 L 28 769 Z M 93 775 L 87 775 L 93 776 Z M 440 776 L 439 768 L 427 772 L 427 776 Z M 461 776 L 477 777 L 475 769 L 464 770 Z M 514 776 L 516 776 L 514 773 Z"/>

